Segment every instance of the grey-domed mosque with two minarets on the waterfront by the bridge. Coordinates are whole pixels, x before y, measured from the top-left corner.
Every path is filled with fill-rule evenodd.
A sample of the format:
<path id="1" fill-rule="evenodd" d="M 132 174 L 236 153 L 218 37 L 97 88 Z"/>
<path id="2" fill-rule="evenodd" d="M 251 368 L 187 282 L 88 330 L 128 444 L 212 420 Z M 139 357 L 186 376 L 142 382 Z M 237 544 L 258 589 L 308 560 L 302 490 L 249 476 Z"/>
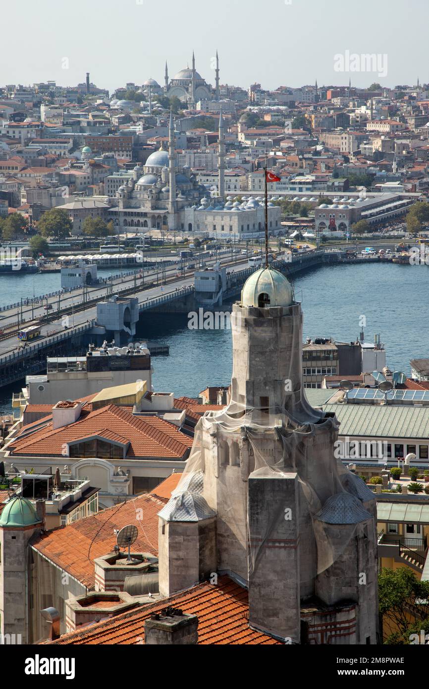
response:
<path id="1" fill-rule="evenodd" d="M 218 190 L 212 196 L 200 185 L 191 169 L 179 167 L 176 158 L 173 115 L 169 121 L 169 150 L 152 153 L 143 167 L 134 168 L 133 178 L 119 187 L 107 220 L 118 232 L 165 232 L 211 234 L 219 238 L 256 238 L 264 233 L 262 198 L 225 198 L 225 135 L 219 118 Z M 280 207 L 269 203 L 269 229 L 280 230 Z"/>

